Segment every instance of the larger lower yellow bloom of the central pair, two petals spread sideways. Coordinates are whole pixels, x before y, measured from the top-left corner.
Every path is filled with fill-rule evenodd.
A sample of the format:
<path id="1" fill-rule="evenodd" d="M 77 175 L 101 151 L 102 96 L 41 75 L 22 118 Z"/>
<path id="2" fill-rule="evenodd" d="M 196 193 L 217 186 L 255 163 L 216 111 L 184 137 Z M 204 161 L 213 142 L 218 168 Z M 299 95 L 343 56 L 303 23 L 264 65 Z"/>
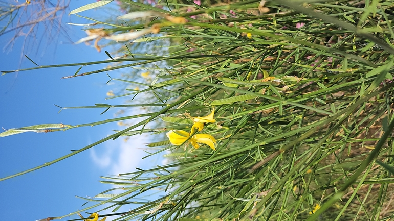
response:
<path id="1" fill-rule="evenodd" d="M 194 133 L 195 128 L 200 131 L 202 129 L 202 123 L 195 123 L 191 128 L 192 133 Z M 191 145 L 194 146 L 195 149 L 200 148 L 200 145 L 198 143 L 204 143 L 207 144 L 214 151 L 216 151 L 216 140 L 212 135 L 209 134 L 195 134 L 190 137 L 190 134 L 186 131 L 172 130 L 167 133 L 167 137 L 173 145 L 179 146 L 189 140 L 189 142 L 191 143 Z"/>

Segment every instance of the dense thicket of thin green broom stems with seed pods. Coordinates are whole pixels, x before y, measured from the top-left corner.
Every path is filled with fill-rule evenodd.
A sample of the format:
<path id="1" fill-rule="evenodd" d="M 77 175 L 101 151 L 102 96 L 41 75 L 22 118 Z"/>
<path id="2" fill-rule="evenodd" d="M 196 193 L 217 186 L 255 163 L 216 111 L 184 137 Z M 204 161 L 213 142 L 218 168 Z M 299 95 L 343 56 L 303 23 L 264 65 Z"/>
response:
<path id="1" fill-rule="evenodd" d="M 107 2 L 111 1 L 93 3 L 71 14 Z M 111 70 L 127 67 L 149 72 L 151 78 L 142 81 L 110 77 L 134 88 L 115 97 L 145 102 L 141 105 L 144 113 L 96 124 L 130 118 L 141 121 L 2 180 L 119 136 L 189 132 L 189 115 L 206 116 L 214 109 L 216 122 L 206 124 L 199 133 L 215 137 L 216 151 L 206 145 L 194 149 L 186 145 L 188 141 L 172 145 L 168 138 L 150 143 L 146 157 L 165 152 L 168 163 L 102 177 L 123 192 L 99 193 L 93 200 L 86 199 L 96 204 L 84 210 L 100 212 L 95 207 L 105 204 L 105 209 L 113 211 L 105 216 L 114 220 L 394 217 L 394 2 L 120 2 L 125 11 L 144 12 L 143 16 L 132 14 L 112 23 L 94 21 L 102 28 L 86 28 L 89 40 L 96 41 L 101 50 L 101 39 L 111 43 L 120 41 L 124 33 L 146 33 L 137 39 L 127 37 L 120 57 L 105 52 L 111 60 L 70 64 L 80 68 L 67 78 L 102 72 L 111 76 Z M 129 42 L 134 43 L 130 46 Z M 145 45 L 150 52 L 133 53 Z M 83 72 L 83 66 L 97 63 L 111 66 Z M 82 126 L 92 125 L 40 125 L 0 135 Z M 134 200 L 152 194 L 156 200 L 149 203 Z M 127 211 L 130 204 L 137 206 L 118 211 Z"/>

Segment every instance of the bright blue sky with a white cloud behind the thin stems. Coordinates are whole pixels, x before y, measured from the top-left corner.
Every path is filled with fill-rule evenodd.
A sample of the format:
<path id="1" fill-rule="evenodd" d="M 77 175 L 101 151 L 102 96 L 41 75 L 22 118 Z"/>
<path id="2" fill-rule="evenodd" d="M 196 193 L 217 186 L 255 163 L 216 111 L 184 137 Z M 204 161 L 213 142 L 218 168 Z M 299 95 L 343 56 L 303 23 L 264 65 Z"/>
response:
<path id="1" fill-rule="evenodd" d="M 93 2 L 93 1 L 92 1 Z M 32 3 L 34 3 L 32 1 Z M 88 1 L 72 1 L 71 9 L 89 3 Z M 115 5 L 115 4 L 114 4 Z M 88 12 L 87 15 L 89 15 Z M 96 11 L 93 11 L 93 16 Z M 92 15 L 92 14 L 91 14 Z M 87 23 L 77 16 L 65 16 L 64 22 Z M 83 27 L 69 27 L 72 41 L 85 37 Z M 0 36 L 0 45 L 4 45 L 13 36 L 9 33 Z M 25 57 L 21 58 L 21 46 L 24 38 L 19 38 L 11 51 L 0 55 L 0 69 L 14 70 L 35 66 Z M 48 42 L 43 42 L 47 45 Z M 9 48 L 7 48 L 8 50 Z M 40 48 L 38 48 L 40 50 Z M 45 53 L 39 51 L 26 54 L 39 65 L 64 64 L 105 60 L 108 57 L 104 48 L 98 53 L 94 47 L 84 44 L 73 45 L 67 38 L 60 37 L 49 44 Z M 20 60 L 21 59 L 21 60 Z M 21 62 L 20 62 L 21 61 Z M 82 71 L 103 68 L 83 68 Z M 110 90 L 117 91 L 121 84 L 106 85 L 106 73 L 97 75 L 63 79 L 73 75 L 79 67 L 38 69 L 7 73 L 0 76 L 0 126 L 4 129 L 18 128 L 45 123 L 63 123 L 69 125 L 84 124 L 114 118 L 115 111 L 103 115 L 103 109 L 71 109 L 59 108 L 75 106 L 92 106 L 96 103 L 123 104 L 124 99 L 105 100 Z M 111 77 L 120 77 L 121 70 L 110 72 Z M 126 110 L 126 113 L 133 110 Z M 22 133 L 0 138 L 0 177 L 9 176 L 26 169 L 41 165 L 69 154 L 70 150 L 78 150 L 122 129 L 115 123 L 95 127 L 84 127 L 54 133 Z M 49 216 L 62 216 L 82 209 L 85 202 L 75 198 L 93 197 L 95 194 L 112 188 L 101 184 L 99 176 L 125 173 L 135 167 L 150 168 L 160 163 L 161 159 L 147 159 L 141 163 L 145 155 L 142 148 L 145 140 L 135 137 L 133 142 L 123 139 L 110 140 L 95 146 L 51 166 L 32 173 L 0 182 L 0 214 L 2 220 L 37 220 Z M 158 162 L 159 161 L 159 162 Z M 92 205 L 92 204 L 88 204 Z M 119 212 L 129 208 L 123 208 Z M 95 212 L 95 211 L 89 211 Z M 83 214 L 83 213 L 82 213 Z M 87 215 L 85 215 L 86 217 Z M 78 218 L 74 215 L 67 219 Z M 108 218 L 107 220 L 111 220 Z"/>

